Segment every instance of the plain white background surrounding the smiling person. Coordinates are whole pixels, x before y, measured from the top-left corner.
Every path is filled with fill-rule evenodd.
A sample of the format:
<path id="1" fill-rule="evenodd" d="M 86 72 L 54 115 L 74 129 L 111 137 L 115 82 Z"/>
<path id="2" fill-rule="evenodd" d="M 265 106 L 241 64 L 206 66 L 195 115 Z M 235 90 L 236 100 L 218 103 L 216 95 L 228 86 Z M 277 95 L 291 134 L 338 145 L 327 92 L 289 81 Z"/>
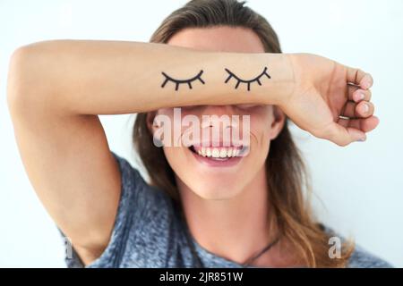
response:
<path id="1" fill-rule="evenodd" d="M 56 227 L 23 170 L 5 102 L 13 50 L 56 39 L 148 41 L 185 1 L 0 0 L 0 266 L 64 267 Z M 395 266 L 403 266 L 403 2 L 262 1 L 251 6 L 278 32 L 285 53 L 324 55 L 373 73 L 381 123 L 348 147 L 293 127 L 313 176 L 324 223 Z M 129 115 L 102 116 L 112 150 L 133 164 Z"/>

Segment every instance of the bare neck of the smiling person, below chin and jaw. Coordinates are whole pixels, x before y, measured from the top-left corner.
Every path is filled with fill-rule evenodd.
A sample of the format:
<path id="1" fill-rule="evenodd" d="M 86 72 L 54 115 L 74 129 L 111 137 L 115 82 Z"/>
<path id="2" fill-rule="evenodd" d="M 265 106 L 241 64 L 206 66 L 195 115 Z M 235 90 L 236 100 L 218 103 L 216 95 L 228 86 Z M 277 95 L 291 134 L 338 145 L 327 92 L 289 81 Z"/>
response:
<path id="1" fill-rule="evenodd" d="M 177 180 L 194 240 L 210 252 L 243 264 L 274 240 L 264 167 L 235 198 L 204 199 Z"/>

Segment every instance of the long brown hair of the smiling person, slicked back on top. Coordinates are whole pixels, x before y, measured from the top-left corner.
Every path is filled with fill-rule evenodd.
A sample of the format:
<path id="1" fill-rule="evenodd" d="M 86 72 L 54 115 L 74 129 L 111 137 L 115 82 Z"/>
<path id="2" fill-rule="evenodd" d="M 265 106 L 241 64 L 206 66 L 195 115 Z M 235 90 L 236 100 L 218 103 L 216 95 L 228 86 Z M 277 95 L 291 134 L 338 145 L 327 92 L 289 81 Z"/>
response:
<path id="1" fill-rule="evenodd" d="M 236 0 L 193 0 L 162 21 L 150 42 L 167 43 L 179 30 L 211 26 L 252 29 L 262 41 L 266 53 L 281 53 L 279 38 L 260 14 Z M 133 126 L 133 143 L 150 176 L 150 184 L 179 200 L 175 173 L 167 163 L 162 148 L 155 147 L 147 127 L 147 113 L 137 114 Z M 341 257 L 330 258 L 330 235 L 313 219 L 310 206 L 311 188 L 304 161 L 294 143 L 288 122 L 270 143 L 266 160 L 269 204 L 282 238 L 296 250 L 297 263 L 312 267 L 347 265 L 353 246 L 343 245 Z"/>

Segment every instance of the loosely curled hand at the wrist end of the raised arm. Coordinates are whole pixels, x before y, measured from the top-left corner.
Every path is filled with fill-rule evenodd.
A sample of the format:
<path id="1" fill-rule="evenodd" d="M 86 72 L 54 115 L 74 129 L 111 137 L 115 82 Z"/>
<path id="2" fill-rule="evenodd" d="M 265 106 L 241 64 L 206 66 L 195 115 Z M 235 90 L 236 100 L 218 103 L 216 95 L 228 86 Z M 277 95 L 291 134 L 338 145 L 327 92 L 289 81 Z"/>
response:
<path id="1" fill-rule="evenodd" d="M 379 123 L 370 102 L 372 76 L 319 55 L 287 56 L 295 88 L 279 105 L 284 113 L 301 129 L 339 146 L 365 140 Z"/>

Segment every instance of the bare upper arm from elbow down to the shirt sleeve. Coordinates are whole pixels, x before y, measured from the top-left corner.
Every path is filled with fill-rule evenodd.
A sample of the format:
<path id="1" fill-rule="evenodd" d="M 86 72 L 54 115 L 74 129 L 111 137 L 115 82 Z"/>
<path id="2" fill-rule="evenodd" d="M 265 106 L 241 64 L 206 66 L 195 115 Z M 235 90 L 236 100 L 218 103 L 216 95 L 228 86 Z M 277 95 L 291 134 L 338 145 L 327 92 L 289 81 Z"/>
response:
<path id="1" fill-rule="evenodd" d="M 15 138 L 39 199 L 89 263 L 107 246 L 115 222 L 119 168 L 99 117 L 64 112 L 41 72 L 30 52 L 14 52 L 7 99 Z"/>

